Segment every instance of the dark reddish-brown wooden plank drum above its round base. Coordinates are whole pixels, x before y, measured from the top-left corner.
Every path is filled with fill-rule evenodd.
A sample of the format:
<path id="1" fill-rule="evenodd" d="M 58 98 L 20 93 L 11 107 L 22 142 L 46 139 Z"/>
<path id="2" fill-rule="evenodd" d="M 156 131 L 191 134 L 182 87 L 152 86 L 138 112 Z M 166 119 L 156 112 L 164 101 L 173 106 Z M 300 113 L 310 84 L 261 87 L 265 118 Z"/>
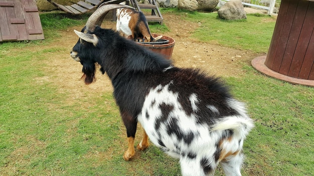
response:
<path id="1" fill-rule="evenodd" d="M 282 0 L 265 65 L 314 80 L 314 0 Z"/>

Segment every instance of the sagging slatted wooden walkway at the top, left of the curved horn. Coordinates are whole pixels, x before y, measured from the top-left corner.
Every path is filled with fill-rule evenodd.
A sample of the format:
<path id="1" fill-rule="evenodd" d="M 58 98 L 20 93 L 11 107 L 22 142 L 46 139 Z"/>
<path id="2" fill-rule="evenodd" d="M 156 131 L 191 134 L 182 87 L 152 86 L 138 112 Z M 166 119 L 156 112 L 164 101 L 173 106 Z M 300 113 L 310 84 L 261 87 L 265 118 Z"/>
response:
<path id="1" fill-rule="evenodd" d="M 97 6 L 101 4 L 103 0 L 83 0 L 83 1 L 80 0 L 77 3 L 74 3 L 72 5 L 62 5 L 57 2 L 54 2 L 53 0 L 48 0 L 48 1 L 67 13 L 83 14 L 89 10 L 93 10 L 97 8 Z"/>

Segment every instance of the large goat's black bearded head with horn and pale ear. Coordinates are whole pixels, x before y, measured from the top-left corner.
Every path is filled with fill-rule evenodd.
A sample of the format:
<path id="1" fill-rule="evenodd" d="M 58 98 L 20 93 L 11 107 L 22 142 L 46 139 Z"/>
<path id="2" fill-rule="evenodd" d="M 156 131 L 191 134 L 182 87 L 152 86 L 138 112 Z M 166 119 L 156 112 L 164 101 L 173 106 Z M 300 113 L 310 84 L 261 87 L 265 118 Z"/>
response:
<path id="1" fill-rule="evenodd" d="M 97 10 L 90 15 L 85 27 L 81 32 L 74 30 L 74 32 L 80 37 L 71 51 L 71 57 L 75 61 L 80 61 L 83 65 L 82 78 L 85 84 L 90 84 L 95 80 L 96 70 L 96 58 L 97 58 L 97 43 L 98 37 L 94 34 L 96 26 L 100 26 L 103 18 L 109 12 L 109 10 L 115 8 L 133 8 L 123 4 L 107 4 L 100 5 Z"/>

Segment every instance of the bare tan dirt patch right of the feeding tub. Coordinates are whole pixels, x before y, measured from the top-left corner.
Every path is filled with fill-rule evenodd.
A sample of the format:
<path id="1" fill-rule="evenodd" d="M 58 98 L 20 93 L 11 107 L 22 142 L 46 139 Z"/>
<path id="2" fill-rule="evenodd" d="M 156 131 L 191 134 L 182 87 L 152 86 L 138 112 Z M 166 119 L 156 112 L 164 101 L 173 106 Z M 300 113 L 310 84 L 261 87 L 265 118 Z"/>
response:
<path id="1" fill-rule="evenodd" d="M 182 20 L 177 15 L 165 14 L 165 23 L 170 32 L 164 35 L 176 40 L 172 59 L 179 67 L 198 67 L 218 76 L 238 76 L 243 74 L 243 64 L 249 64 L 256 54 L 232 49 L 217 44 L 200 42 L 190 38 L 200 23 Z"/>

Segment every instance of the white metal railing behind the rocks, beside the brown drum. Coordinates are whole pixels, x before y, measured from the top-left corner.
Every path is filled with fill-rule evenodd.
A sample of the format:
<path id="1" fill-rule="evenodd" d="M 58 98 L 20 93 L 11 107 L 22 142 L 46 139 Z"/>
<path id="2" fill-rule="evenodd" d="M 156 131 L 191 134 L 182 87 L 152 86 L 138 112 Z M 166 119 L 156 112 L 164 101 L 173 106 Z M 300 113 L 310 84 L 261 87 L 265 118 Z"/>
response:
<path id="1" fill-rule="evenodd" d="M 224 0 L 229 1 L 229 0 Z M 269 15 L 277 15 L 281 0 L 241 0 L 243 5 L 265 9 Z"/>

